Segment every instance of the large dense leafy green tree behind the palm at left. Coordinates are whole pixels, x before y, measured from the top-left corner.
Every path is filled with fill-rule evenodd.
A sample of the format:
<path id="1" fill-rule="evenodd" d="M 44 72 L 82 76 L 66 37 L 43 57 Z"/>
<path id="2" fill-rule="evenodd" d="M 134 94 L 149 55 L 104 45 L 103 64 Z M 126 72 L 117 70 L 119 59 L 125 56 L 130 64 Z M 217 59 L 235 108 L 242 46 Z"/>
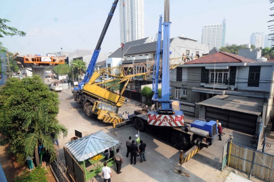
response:
<path id="1" fill-rule="evenodd" d="M 9 152 L 23 152 L 25 139 L 34 131 L 32 124 L 26 128 L 23 114 L 27 113 L 34 120 L 41 104 L 47 108 L 47 123 L 58 124 L 58 94 L 51 92 L 39 76 L 26 77 L 21 81 L 10 78 L 0 88 L 0 132 L 4 136 L 0 144 L 9 144 Z"/>

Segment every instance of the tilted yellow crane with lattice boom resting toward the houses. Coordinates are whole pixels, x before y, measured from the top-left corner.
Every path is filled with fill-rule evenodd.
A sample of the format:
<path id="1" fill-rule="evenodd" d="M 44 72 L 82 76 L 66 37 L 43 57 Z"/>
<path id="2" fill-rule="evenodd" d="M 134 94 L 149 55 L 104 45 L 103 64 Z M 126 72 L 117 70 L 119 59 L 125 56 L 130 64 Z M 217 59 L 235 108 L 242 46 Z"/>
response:
<path id="1" fill-rule="evenodd" d="M 170 69 L 182 64 L 182 57 L 170 58 Z M 96 70 L 83 89 L 74 92 L 74 100 L 84 104 L 88 116 L 95 115 L 104 123 L 113 123 L 115 128 L 116 124 L 124 121 L 118 108 L 125 102 L 123 94 L 128 82 L 137 76 L 143 76 L 146 80 L 151 76 L 153 67 L 154 61 L 150 61 Z"/>

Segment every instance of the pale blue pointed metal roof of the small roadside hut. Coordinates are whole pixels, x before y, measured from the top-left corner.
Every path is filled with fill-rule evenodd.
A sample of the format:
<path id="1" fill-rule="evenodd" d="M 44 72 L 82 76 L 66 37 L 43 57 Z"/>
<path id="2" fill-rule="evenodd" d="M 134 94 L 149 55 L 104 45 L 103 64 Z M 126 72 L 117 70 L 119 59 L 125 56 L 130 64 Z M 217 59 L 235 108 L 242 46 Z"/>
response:
<path id="1" fill-rule="evenodd" d="M 98 131 L 94 134 L 68 142 L 65 146 L 78 161 L 84 161 L 118 143 L 118 140 L 115 140 L 105 132 Z"/>

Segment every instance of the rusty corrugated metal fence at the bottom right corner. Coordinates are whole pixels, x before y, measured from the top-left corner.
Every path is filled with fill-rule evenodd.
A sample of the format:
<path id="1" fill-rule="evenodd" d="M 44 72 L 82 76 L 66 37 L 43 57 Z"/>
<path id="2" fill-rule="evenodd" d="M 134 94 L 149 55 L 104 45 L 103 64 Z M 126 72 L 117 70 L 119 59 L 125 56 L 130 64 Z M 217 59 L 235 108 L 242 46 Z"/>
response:
<path id="1" fill-rule="evenodd" d="M 274 181 L 273 155 L 235 143 L 228 142 L 226 145 L 224 154 L 227 156 L 223 163 L 264 181 Z"/>

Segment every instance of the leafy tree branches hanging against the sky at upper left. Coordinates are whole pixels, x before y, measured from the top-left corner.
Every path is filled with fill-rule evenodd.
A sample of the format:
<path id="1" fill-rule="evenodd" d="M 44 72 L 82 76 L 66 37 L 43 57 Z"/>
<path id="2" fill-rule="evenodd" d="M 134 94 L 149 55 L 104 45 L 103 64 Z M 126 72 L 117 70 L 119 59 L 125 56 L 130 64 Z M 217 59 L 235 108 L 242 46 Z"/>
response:
<path id="1" fill-rule="evenodd" d="M 4 38 L 4 36 L 26 36 L 26 33 L 23 31 L 19 31 L 17 28 L 6 25 L 10 20 L 0 18 L 0 38 Z M 0 52 L 7 52 L 8 49 L 3 46 L 3 43 L 0 42 Z"/>

